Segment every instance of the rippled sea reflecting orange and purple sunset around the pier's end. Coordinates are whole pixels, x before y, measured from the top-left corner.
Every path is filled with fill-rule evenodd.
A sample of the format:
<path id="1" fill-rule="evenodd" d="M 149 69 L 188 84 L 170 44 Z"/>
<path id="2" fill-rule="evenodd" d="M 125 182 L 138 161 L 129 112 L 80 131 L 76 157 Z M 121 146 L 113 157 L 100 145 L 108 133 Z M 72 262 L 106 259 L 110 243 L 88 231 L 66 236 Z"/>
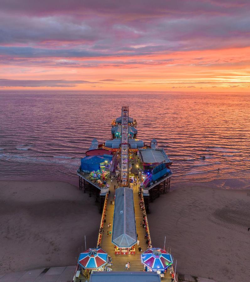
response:
<path id="1" fill-rule="evenodd" d="M 74 91 L 0 92 L 0 179 L 76 184 L 80 158 L 93 138 L 112 138 L 123 105 L 137 138 L 166 150 L 173 182 L 250 179 L 249 95 Z"/>

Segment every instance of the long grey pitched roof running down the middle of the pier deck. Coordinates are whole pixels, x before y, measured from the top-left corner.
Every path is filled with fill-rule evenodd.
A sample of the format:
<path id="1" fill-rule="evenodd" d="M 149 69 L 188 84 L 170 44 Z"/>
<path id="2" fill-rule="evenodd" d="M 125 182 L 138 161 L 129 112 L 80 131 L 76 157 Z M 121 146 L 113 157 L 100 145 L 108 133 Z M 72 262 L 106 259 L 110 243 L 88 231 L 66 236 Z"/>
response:
<path id="1" fill-rule="evenodd" d="M 129 248 L 137 242 L 133 190 L 121 187 L 115 191 L 112 243 Z"/>

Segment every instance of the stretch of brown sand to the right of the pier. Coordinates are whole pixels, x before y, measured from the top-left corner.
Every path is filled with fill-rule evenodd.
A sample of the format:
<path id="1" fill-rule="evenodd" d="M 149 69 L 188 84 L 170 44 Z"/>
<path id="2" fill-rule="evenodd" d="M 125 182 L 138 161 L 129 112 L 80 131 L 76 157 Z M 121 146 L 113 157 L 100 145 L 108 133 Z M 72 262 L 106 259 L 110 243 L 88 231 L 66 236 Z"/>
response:
<path id="1" fill-rule="evenodd" d="M 177 273 L 249 281 L 250 190 L 182 187 L 150 204 L 152 245 L 163 247 L 166 236 Z"/>

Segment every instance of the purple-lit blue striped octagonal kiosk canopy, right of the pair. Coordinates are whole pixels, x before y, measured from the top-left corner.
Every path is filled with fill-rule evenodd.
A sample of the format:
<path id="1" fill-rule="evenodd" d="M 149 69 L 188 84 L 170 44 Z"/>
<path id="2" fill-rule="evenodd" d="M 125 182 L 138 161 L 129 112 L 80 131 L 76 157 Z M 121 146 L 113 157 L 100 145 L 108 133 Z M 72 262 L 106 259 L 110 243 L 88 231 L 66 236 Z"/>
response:
<path id="1" fill-rule="evenodd" d="M 168 268 L 173 264 L 173 259 L 161 248 L 150 248 L 141 254 L 141 262 L 153 271 L 157 271 Z"/>

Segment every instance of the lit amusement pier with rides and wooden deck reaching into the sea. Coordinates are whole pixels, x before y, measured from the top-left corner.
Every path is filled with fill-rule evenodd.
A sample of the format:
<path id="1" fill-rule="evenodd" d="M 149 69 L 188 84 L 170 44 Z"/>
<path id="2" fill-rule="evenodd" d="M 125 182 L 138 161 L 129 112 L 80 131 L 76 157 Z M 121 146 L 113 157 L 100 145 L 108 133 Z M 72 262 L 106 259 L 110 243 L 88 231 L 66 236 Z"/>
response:
<path id="1" fill-rule="evenodd" d="M 136 275 L 139 275 L 140 272 L 145 273 L 146 270 L 146 273 L 151 272 L 152 274 L 153 271 L 155 275 L 157 275 L 158 272 L 158 278 L 162 281 L 177 282 L 178 275 L 175 273 L 171 255 L 163 250 L 163 248 L 161 250 L 159 246 L 154 246 L 151 241 L 146 215 L 146 213 L 149 212 L 149 203 L 159 197 L 160 194 L 169 192 L 170 177 L 172 175 L 169 165 L 171 165 L 172 162 L 170 162 L 164 150 L 157 146 L 155 139 L 152 140 L 150 145 L 146 145 L 143 141 L 137 139 L 129 139 L 129 132 L 131 131 L 130 125 L 132 126 L 135 123 L 132 118 L 128 118 L 128 107 L 122 107 L 122 116 L 115 121 L 116 122 L 113 121 L 112 123 L 115 126 L 115 132 L 120 133 L 120 139 L 115 138 L 113 141 L 106 141 L 105 144 L 100 145 L 98 145 L 97 140 L 94 139 L 91 145 L 93 151 L 87 152 L 88 155 L 92 154 L 94 156 L 97 156 L 96 154 L 100 152 L 97 156 L 97 158 L 103 158 L 102 163 L 100 163 L 100 169 L 95 171 L 93 168 L 98 168 L 98 166 L 92 162 L 91 158 L 91 162 L 89 163 L 89 159 L 85 157 L 86 161 L 84 158 L 82 159 L 83 162 L 81 161 L 81 166 L 77 171 L 77 175 L 79 176 L 79 189 L 86 193 L 88 188 L 89 196 L 95 196 L 96 201 L 100 203 L 99 207 L 102 213 L 100 232 L 98 234 L 97 246 L 93 246 L 93 248 L 96 248 L 96 250 L 101 248 L 112 257 L 112 264 L 107 264 L 108 267 L 112 269 L 109 275 L 123 275 L 121 274 L 122 272 L 129 272 L 131 277 L 128 279 L 135 281 L 133 279 L 135 279 Z M 98 150 L 104 151 L 102 155 L 101 151 Z M 105 154 L 105 150 L 107 150 L 107 154 Z M 112 152 L 112 160 L 109 162 L 110 152 Z M 128 193 L 131 191 L 129 188 L 132 190 L 131 193 Z M 117 192 L 119 191 L 118 195 L 116 189 L 119 189 L 117 190 Z M 125 196 L 122 195 L 126 195 L 126 201 Z M 129 208 L 127 205 L 129 205 Z M 134 211 L 131 213 L 133 207 Z M 126 213 L 125 210 L 127 210 Z M 116 215 L 116 220 L 114 220 L 114 215 Z M 128 215 L 130 216 L 128 217 Z M 108 226 L 109 224 L 111 224 L 111 227 Z M 143 225 L 145 226 L 143 227 Z M 115 238 L 112 237 L 113 231 L 115 231 Z M 124 235 L 119 237 L 120 234 Z M 127 239 L 122 239 L 123 242 L 116 243 L 114 239 L 117 240 L 117 238 Z M 139 240 L 139 243 L 137 243 L 136 239 Z M 129 240 L 130 243 L 128 243 L 129 241 L 127 240 Z M 139 247 L 141 251 L 139 251 Z M 160 253 L 159 256 L 156 255 L 156 257 L 153 257 L 150 269 L 144 265 L 145 262 L 144 264 L 142 263 L 142 254 L 145 251 L 150 251 L 151 248 L 152 251 L 160 251 Z M 164 268 L 165 273 L 164 271 L 156 272 L 158 268 L 158 266 L 155 266 L 156 260 L 158 259 L 158 265 L 161 265 L 166 259 L 164 253 L 170 258 L 168 260 L 169 265 Z M 144 255 L 144 257 L 145 256 L 146 255 Z M 129 270 L 125 269 L 127 262 L 130 262 Z M 74 281 L 76 282 L 80 281 L 80 279 L 84 281 L 86 278 L 90 278 L 89 274 L 86 274 L 86 272 L 89 272 L 88 269 L 84 271 L 85 276 L 83 276 L 84 274 L 81 269 L 83 271 L 81 264 L 78 262 L 74 276 Z M 94 270 L 96 269 L 93 269 L 93 271 Z M 101 275 L 102 272 L 103 271 L 100 271 L 96 277 L 106 277 L 107 279 L 109 275 Z M 133 273 L 135 276 L 133 276 Z M 106 280 L 104 279 L 103 281 Z"/>

